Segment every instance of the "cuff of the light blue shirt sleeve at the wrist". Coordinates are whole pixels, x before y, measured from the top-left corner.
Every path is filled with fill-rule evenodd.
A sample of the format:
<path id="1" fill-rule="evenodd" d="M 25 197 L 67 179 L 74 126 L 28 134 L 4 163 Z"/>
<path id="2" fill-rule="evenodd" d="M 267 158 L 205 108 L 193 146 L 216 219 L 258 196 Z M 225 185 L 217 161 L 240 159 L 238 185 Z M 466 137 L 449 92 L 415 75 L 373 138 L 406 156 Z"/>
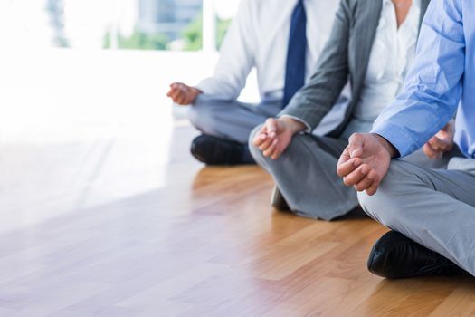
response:
<path id="1" fill-rule="evenodd" d="M 386 123 L 385 125 L 373 127 L 371 133 L 376 133 L 390 142 L 399 151 L 400 158 L 408 156 L 418 149 L 418 145 L 413 139 L 413 135 L 404 128 Z"/>

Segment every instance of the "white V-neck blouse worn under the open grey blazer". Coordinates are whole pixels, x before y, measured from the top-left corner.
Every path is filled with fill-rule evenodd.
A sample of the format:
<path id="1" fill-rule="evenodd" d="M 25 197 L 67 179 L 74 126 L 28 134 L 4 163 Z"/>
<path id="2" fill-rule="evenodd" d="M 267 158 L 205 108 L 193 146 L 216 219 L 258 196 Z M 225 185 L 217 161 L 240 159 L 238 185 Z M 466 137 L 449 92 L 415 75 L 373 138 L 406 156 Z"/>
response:
<path id="1" fill-rule="evenodd" d="M 404 23 L 398 28 L 393 2 L 382 1 L 365 85 L 353 113 L 356 120 L 371 124 L 403 88 L 405 75 L 415 55 L 421 14 L 421 0 L 413 0 Z"/>

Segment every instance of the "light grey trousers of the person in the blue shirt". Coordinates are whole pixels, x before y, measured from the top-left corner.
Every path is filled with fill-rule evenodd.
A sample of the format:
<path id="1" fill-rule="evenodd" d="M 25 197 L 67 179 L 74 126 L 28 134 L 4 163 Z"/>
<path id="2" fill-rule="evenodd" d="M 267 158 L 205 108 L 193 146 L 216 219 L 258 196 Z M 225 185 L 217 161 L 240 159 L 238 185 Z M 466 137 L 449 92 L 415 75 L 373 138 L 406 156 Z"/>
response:
<path id="1" fill-rule="evenodd" d="M 369 216 L 475 275 L 475 159 L 448 169 L 394 160 L 376 194 L 358 194 Z"/>

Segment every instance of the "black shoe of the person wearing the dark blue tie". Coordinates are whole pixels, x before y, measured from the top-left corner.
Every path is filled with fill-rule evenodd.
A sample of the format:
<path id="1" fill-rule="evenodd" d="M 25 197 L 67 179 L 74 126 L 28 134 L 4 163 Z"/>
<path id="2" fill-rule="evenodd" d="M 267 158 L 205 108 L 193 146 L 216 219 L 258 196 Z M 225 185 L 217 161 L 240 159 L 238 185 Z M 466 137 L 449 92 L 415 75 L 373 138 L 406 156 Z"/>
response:
<path id="1" fill-rule="evenodd" d="M 200 135 L 191 143 L 191 154 L 207 165 L 253 164 L 246 144 L 209 135 Z M 247 159 L 251 158 L 251 159 Z"/>

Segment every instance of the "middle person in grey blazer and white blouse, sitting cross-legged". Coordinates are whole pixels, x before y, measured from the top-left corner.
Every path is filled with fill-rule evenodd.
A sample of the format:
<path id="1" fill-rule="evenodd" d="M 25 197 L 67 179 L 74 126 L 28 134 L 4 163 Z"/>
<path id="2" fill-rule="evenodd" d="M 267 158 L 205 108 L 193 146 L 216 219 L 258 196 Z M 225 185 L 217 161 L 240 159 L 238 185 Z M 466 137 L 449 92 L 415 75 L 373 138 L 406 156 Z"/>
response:
<path id="1" fill-rule="evenodd" d="M 337 159 L 355 132 L 367 132 L 401 90 L 413 62 L 429 0 L 342 0 L 317 71 L 282 110 L 257 127 L 252 156 L 277 183 L 273 206 L 331 220 L 359 206 L 356 191 L 337 175 Z M 309 135 L 350 78 L 345 120 L 326 136 Z M 439 168 L 453 150 L 453 123 L 408 160 Z M 443 156 L 443 158 L 442 158 Z M 428 159 L 431 158 L 431 159 Z"/>

